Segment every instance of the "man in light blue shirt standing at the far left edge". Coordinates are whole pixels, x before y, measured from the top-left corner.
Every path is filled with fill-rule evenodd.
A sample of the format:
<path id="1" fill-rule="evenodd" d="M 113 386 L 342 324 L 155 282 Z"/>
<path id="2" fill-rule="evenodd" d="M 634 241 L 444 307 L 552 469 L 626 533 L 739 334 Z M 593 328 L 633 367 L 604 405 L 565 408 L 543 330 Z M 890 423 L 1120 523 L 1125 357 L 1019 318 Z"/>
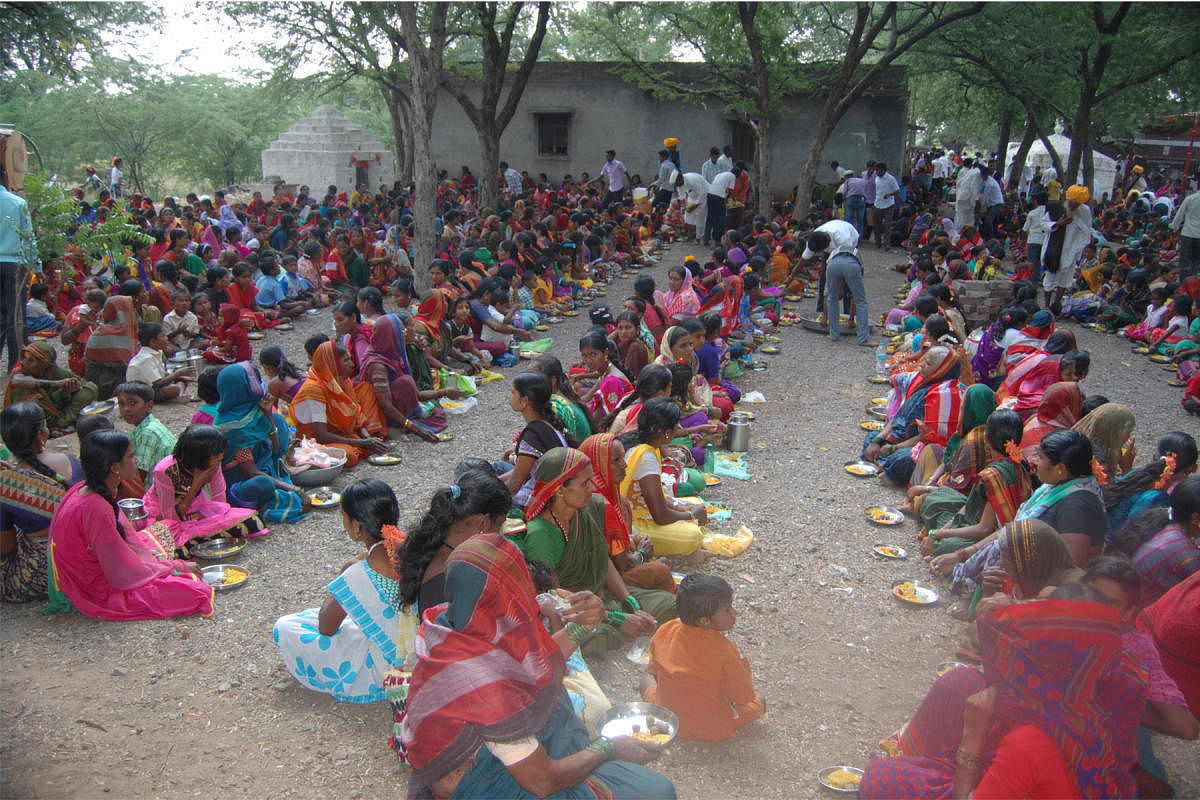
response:
<path id="1" fill-rule="evenodd" d="M 0 164 L 0 351 L 8 349 L 8 372 L 20 360 L 24 331 L 18 320 L 25 309 L 30 269 L 38 269 L 34 221 L 25 198 L 8 191 L 8 175 Z"/>

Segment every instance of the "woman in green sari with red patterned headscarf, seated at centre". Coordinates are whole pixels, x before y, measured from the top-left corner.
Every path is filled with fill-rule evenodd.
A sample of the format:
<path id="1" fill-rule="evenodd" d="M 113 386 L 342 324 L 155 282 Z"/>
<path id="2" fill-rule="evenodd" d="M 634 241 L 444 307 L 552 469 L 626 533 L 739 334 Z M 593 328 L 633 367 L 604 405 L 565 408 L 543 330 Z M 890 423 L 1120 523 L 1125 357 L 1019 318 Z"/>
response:
<path id="1" fill-rule="evenodd" d="M 584 655 L 604 655 L 624 639 L 650 636 L 658 622 L 676 616 L 670 591 L 628 587 L 608 557 L 604 535 L 605 500 L 592 492 L 592 462 L 578 450 L 548 450 L 534 468 L 533 494 L 526 505 L 521 549 L 542 561 L 570 591 L 604 599 L 607 619 L 583 643 Z"/>

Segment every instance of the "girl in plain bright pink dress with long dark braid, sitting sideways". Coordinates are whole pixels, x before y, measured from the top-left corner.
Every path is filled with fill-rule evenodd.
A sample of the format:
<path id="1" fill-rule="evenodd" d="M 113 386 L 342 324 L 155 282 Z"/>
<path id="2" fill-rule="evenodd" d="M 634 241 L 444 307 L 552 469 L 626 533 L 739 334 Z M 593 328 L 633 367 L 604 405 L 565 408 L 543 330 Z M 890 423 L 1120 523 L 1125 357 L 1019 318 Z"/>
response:
<path id="1" fill-rule="evenodd" d="M 50 522 L 50 604 L 62 597 L 85 616 L 161 619 L 212 613 L 212 587 L 198 569 L 169 554 L 150 534 L 134 530 L 116 509 L 121 480 L 137 475 L 133 445 L 119 431 L 83 440 L 84 480 L 62 498 Z"/>

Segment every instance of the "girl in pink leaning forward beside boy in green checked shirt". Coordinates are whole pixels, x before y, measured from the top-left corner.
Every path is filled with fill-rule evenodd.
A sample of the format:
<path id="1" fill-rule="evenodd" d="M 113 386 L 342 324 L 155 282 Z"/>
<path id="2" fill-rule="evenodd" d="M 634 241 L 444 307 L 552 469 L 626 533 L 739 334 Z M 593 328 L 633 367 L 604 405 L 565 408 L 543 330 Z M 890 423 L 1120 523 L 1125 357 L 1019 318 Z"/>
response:
<path id="1" fill-rule="evenodd" d="M 211 425 L 188 426 L 175 452 L 154 469 L 145 511 L 157 521 L 151 528 L 170 531 L 173 547 L 186 552 L 190 542 L 216 536 L 262 536 L 268 533 L 254 509 L 230 506 L 226 499 L 221 462 L 226 437 Z"/>

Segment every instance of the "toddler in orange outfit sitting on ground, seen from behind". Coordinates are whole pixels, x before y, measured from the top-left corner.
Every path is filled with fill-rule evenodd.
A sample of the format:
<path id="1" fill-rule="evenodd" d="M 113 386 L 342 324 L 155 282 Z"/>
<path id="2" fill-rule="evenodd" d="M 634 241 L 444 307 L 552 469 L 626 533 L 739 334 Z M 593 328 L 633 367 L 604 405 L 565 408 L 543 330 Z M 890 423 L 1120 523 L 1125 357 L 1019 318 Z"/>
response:
<path id="1" fill-rule="evenodd" d="M 721 741 L 762 716 L 750 662 L 722 636 L 733 628 L 733 589 L 714 575 L 689 575 L 676 594 L 679 619 L 659 627 L 650 643 L 650 674 L 642 698 L 679 717 L 679 736 Z"/>

